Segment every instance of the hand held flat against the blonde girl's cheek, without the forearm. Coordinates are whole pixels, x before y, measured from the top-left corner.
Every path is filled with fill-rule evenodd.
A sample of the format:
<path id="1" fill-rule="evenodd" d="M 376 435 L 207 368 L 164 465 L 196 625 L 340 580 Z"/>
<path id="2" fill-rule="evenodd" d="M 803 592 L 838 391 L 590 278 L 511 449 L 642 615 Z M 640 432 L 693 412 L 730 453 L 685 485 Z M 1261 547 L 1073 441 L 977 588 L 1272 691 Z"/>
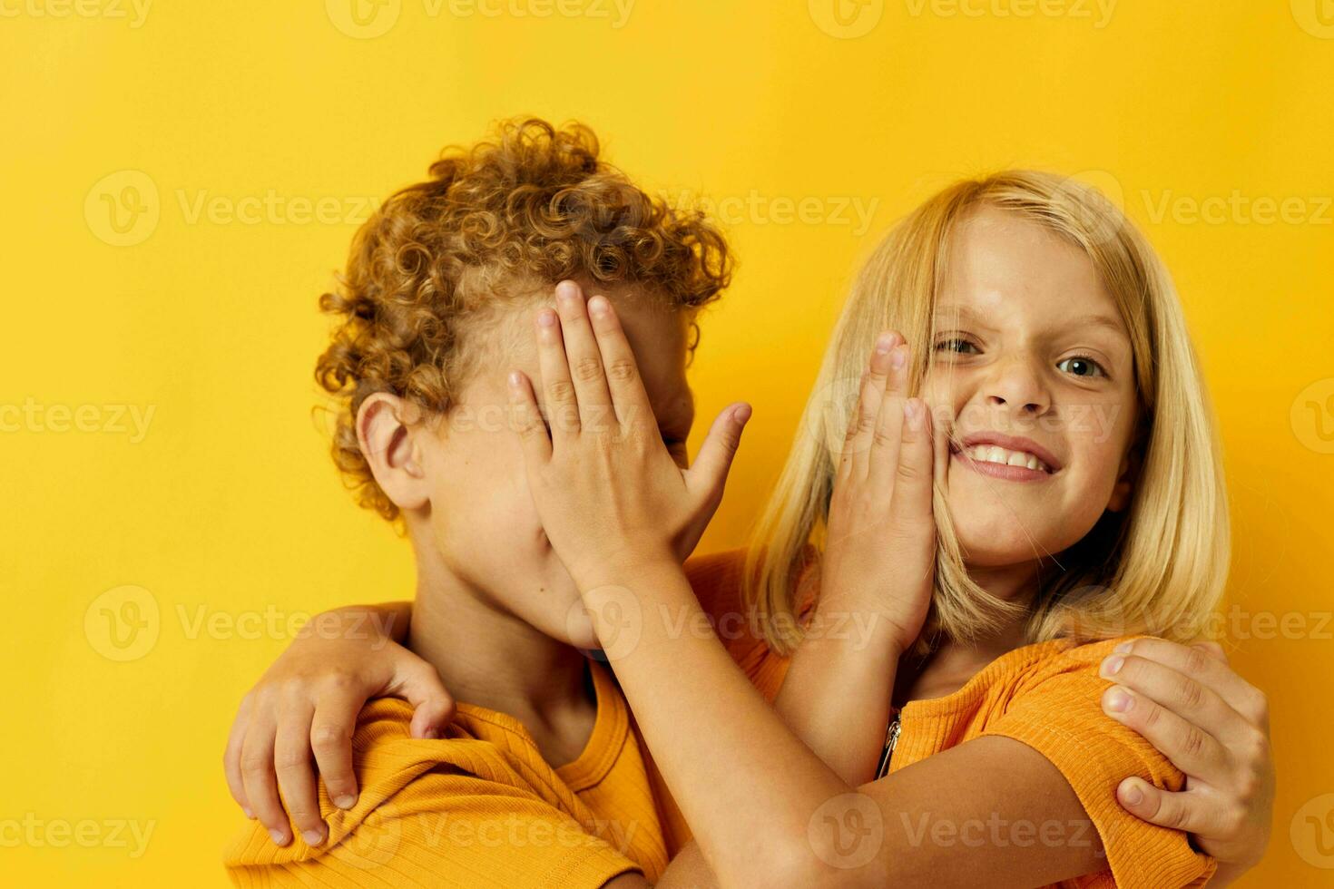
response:
<path id="1" fill-rule="evenodd" d="M 935 572 L 932 481 L 948 452 L 920 399 L 907 397 L 908 348 L 898 333 L 875 343 L 834 478 L 820 569 L 827 608 L 888 621 L 898 650 L 916 640 Z"/>

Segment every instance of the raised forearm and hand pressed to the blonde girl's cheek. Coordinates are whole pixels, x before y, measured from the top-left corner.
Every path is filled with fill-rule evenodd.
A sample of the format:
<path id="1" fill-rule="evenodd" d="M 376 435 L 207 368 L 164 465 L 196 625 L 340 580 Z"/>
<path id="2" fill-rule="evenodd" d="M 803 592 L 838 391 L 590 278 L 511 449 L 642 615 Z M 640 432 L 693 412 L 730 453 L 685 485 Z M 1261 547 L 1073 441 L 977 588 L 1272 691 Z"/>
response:
<path id="1" fill-rule="evenodd" d="M 852 784 L 875 777 L 899 657 L 931 596 L 932 481 L 943 484 L 948 454 L 943 425 L 924 413 L 919 431 L 904 423 L 907 359 L 900 336 L 878 339 L 839 456 L 815 618 L 774 702 Z M 831 625 L 859 632 L 822 632 Z"/>

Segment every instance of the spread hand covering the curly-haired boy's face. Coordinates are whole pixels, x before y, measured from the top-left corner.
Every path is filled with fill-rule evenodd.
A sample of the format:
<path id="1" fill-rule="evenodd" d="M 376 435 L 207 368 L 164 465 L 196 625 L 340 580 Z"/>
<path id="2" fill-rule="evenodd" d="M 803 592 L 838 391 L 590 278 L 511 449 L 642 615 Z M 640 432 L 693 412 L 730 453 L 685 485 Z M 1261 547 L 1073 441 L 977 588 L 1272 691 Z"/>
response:
<path id="1" fill-rule="evenodd" d="M 611 303 L 594 296 L 586 305 L 579 287 L 563 281 L 556 308 L 536 323 L 550 433 L 532 383 L 518 371 L 510 401 L 543 528 L 587 592 L 612 566 L 679 565 L 682 540 L 698 540 L 722 501 L 750 407 L 723 409 L 695 465 L 680 469 Z"/>

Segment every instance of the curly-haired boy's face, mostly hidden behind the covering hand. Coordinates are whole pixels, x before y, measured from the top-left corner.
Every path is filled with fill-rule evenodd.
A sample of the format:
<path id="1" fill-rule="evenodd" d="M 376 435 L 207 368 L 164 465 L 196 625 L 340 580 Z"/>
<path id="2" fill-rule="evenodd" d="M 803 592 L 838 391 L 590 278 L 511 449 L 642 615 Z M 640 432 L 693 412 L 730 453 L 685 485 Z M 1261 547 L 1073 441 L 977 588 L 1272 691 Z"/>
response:
<path id="1" fill-rule="evenodd" d="M 628 291 L 586 288 L 611 299 L 639 363 L 654 416 L 678 462 L 695 407 L 686 381 L 690 319 Z M 550 303 L 550 300 L 547 300 Z M 430 526 L 444 568 L 492 606 L 579 648 L 598 648 L 574 581 L 547 541 L 528 493 L 523 454 L 508 425 L 506 376 L 519 369 L 544 403 L 534 319 L 543 303 L 516 308 L 495 329 L 494 347 L 439 436 L 427 446 Z"/>

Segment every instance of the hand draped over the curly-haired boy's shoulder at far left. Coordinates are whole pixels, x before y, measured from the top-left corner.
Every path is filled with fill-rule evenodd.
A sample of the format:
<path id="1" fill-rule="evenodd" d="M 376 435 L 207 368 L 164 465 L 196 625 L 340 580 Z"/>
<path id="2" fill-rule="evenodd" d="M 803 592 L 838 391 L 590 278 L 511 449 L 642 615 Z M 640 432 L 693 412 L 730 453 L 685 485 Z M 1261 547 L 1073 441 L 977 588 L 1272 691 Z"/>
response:
<path id="1" fill-rule="evenodd" d="M 394 626 L 399 616 L 402 626 Z M 328 837 L 312 760 L 329 800 L 340 809 L 356 804 L 352 730 L 367 700 L 412 704 L 412 737 L 436 737 L 454 716 L 435 668 L 391 638 L 390 630 L 407 630 L 406 604 L 342 608 L 317 614 L 308 628 L 241 698 L 223 756 L 232 798 L 280 846 L 292 841 L 284 800 L 307 844 Z"/>

